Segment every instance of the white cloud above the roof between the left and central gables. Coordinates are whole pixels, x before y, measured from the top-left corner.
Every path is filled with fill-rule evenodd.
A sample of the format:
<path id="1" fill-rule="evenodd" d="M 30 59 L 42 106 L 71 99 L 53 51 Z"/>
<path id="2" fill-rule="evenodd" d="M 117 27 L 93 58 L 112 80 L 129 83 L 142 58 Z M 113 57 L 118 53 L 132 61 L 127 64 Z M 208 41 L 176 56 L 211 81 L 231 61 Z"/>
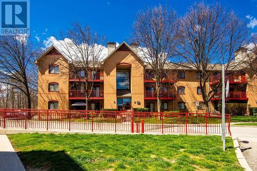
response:
<path id="1" fill-rule="evenodd" d="M 45 46 L 44 48 L 42 48 L 43 50 L 46 50 L 48 47 L 50 47 L 51 45 L 54 45 L 58 48 L 58 50 L 63 54 L 69 54 L 70 53 L 74 53 L 71 58 L 73 60 L 76 60 L 76 58 L 81 58 L 81 56 L 79 55 L 79 49 L 76 49 L 74 43 L 68 39 L 68 38 L 65 38 L 64 40 L 57 40 L 56 37 L 54 36 L 50 36 L 47 38 L 47 40 L 44 40 L 43 41 L 43 45 Z M 72 50 L 70 50 L 69 52 L 67 51 L 66 49 L 66 46 L 70 46 Z M 83 47 L 82 45 L 80 45 L 81 47 Z M 92 46 L 90 46 L 92 47 Z M 89 48 L 90 48 L 89 47 Z M 95 52 L 99 52 L 100 49 L 102 49 L 101 51 L 101 54 L 99 55 L 99 60 L 103 60 L 107 57 L 108 55 L 108 49 L 107 47 L 103 46 L 103 45 L 98 45 L 98 44 L 95 44 L 94 45 L 94 48 L 95 48 Z M 99 50 L 97 50 L 99 49 Z M 67 59 L 69 59 L 70 57 L 69 56 L 66 56 Z"/>

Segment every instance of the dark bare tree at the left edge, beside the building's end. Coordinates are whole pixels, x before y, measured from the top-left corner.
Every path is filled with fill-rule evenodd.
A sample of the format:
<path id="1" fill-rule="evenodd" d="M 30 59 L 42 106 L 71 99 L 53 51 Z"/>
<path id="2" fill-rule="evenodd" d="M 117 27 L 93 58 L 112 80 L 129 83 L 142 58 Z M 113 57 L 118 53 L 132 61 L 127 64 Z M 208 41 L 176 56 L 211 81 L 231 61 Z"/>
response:
<path id="1" fill-rule="evenodd" d="M 37 50 L 34 49 L 27 34 L 0 37 L 0 83 L 24 93 L 27 108 L 31 108 L 31 88 L 36 90 L 37 86 L 37 79 L 32 74 Z M 9 90 L 6 98 L 8 96 Z"/>

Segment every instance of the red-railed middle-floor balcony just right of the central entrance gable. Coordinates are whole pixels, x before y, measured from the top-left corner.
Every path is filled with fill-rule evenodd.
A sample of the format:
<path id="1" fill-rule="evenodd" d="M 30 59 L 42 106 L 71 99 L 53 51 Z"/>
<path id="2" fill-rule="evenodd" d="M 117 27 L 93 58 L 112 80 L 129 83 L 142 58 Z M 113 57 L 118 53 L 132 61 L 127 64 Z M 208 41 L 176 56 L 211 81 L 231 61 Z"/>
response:
<path id="1" fill-rule="evenodd" d="M 177 92 L 174 91 L 161 91 L 161 100 L 176 100 Z M 144 90 L 144 99 L 145 100 L 157 100 L 156 90 Z"/>

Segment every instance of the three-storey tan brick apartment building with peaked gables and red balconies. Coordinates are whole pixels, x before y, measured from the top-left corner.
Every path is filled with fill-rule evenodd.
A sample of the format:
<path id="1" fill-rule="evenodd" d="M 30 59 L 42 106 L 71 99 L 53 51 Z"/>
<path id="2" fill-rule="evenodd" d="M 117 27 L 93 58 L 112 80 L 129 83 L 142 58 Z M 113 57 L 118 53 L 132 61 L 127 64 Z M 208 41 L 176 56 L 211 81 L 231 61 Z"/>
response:
<path id="1" fill-rule="evenodd" d="M 115 43 L 110 42 L 107 48 L 108 55 L 101 61 L 97 73 L 94 73 L 94 87 L 88 109 L 133 110 L 147 107 L 149 111 L 157 111 L 155 75 L 138 55 L 136 46 L 123 42 L 116 47 Z M 39 67 L 38 108 L 85 109 L 85 91 L 83 87 L 76 86 L 81 81 L 77 77 L 79 75 L 69 72 L 65 56 L 56 46 L 52 45 L 45 50 L 35 64 Z M 61 69 L 66 72 L 60 74 Z M 257 106 L 257 90 L 249 88 L 247 77 L 243 69 L 226 77 L 230 83 L 227 103 Z M 208 90 L 218 84 L 220 79 L 221 72 L 213 71 L 207 84 Z M 168 73 L 161 82 L 161 111 L 206 111 L 199 88 L 199 74 L 193 67 L 179 65 L 175 73 Z M 211 111 L 217 109 L 221 97 L 221 92 L 215 93 L 210 102 Z"/>

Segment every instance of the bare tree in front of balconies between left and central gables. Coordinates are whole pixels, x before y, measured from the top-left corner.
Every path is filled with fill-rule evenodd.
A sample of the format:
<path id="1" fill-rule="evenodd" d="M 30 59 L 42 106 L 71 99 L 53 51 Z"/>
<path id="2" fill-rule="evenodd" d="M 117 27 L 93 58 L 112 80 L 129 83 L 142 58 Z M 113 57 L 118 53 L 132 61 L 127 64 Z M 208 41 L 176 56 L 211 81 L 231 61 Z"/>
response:
<path id="1" fill-rule="evenodd" d="M 84 87 L 87 110 L 104 55 L 105 47 L 102 45 L 105 44 L 105 37 L 94 33 L 89 26 L 81 26 L 78 22 L 74 22 L 72 25 L 73 28 L 67 33 L 61 32 L 62 40 L 58 41 L 58 50 L 61 51 L 68 63 L 68 67 L 60 63 L 65 68 L 60 72 L 63 77 L 68 70 L 69 77 L 79 79 L 77 84 Z"/>

